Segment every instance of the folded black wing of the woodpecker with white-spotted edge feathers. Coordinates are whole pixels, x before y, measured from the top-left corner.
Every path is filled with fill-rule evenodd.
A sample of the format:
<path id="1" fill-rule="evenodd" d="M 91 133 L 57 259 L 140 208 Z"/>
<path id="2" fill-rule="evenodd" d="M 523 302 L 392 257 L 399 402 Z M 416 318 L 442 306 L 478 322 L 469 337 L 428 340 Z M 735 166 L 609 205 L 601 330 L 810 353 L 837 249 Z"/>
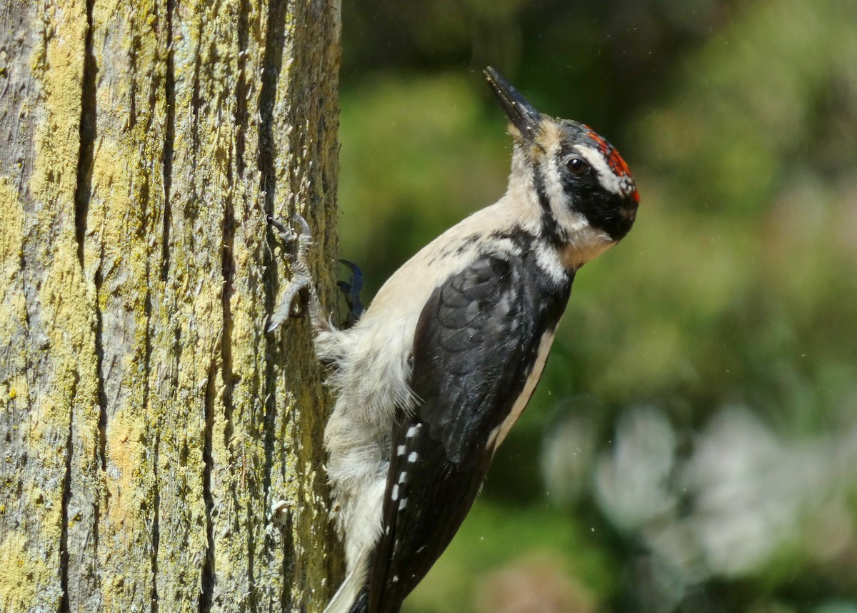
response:
<path id="1" fill-rule="evenodd" d="M 398 611 L 452 540 L 569 285 L 545 295 L 523 261 L 482 256 L 440 285 L 414 339 L 413 414 L 401 412 L 369 574 L 369 610 Z"/>

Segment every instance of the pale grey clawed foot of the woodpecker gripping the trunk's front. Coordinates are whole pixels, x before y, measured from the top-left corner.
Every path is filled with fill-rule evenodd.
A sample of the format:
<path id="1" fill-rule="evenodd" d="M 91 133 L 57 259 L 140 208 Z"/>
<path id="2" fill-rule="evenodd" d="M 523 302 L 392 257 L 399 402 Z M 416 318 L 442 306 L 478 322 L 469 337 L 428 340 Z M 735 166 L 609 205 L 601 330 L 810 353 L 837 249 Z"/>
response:
<path id="1" fill-rule="evenodd" d="M 324 322 L 324 317 L 321 315 L 321 302 L 307 263 L 307 254 L 310 245 L 312 245 L 312 236 L 307 220 L 298 214 L 292 217 L 292 220 L 300 226 L 300 231 L 297 233 L 278 219 L 269 217 L 268 220 L 276 228 L 279 238 L 285 243 L 297 243 L 297 249 L 295 255 L 286 256 L 291 264 L 291 281 L 285 286 L 277 308 L 271 316 L 267 331 L 273 332 L 289 317 L 305 316 L 308 310 L 314 325 L 317 325 L 318 322 Z M 301 298 L 299 302 L 296 301 L 297 297 Z"/>

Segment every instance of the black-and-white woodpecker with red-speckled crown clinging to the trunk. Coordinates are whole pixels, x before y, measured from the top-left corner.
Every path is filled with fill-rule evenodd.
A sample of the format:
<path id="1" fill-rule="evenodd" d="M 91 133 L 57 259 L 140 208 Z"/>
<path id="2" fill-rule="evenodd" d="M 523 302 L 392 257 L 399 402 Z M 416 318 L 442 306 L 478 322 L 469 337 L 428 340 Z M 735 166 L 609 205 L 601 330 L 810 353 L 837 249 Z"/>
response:
<path id="1" fill-rule="evenodd" d="M 506 194 L 393 274 L 347 330 L 303 261 L 271 328 L 309 294 L 336 406 L 325 430 L 346 577 L 326 613 L 395 613 L 450 543 L 542 376 L 578 268 L 631 229 L 639 196 L 608 141 L 537 112 L 496 70 L 514 140 Z M 303 222 L 301 260 L 309 246 Z"/>

